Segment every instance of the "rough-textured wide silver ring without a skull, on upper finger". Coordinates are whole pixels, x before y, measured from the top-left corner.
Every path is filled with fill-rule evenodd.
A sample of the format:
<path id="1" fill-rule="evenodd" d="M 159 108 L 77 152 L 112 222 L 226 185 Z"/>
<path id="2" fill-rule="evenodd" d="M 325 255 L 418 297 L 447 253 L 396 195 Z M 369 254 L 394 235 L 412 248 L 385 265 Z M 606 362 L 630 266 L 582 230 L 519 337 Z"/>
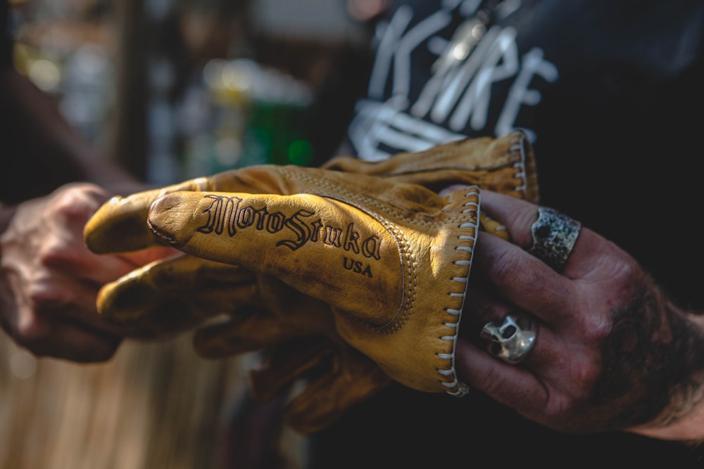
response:
<path id="1" fill-rule="evenodd" d="M 559 272 L 570 257 L 581 229 L 579 221 L 549 207 L 539 207 L 538 219 L 530 229 L 533 245 L 528 252 Z"/>

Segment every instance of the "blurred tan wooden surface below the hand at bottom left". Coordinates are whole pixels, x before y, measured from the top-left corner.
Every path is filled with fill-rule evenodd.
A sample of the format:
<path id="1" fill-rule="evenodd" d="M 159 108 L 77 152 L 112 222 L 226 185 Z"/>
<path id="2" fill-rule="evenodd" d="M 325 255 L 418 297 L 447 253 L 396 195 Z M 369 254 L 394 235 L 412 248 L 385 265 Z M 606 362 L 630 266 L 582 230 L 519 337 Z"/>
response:
<path id="1" fill-rule="evenodd" d="M 0 352 L 0 468 L 222 467 L 238 359 L 200 359 L 187 334 L 125 342 L 106 364 L 34 361 L 4 334 Z"/>

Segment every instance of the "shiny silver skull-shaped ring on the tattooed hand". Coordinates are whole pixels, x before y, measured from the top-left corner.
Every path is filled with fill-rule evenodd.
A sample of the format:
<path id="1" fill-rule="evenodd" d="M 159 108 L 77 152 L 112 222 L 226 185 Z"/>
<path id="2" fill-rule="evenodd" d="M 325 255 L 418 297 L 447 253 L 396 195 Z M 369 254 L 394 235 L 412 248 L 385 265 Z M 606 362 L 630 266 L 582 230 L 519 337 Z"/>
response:
<path id="1" fill-rule="evenodd" d="M 534 345 L 537 328 L 527 316 L 506 316 L 501 326 L 489 321 L 482 328 L 481 337 L 489 339 L 487 351 L 509 364 L 523 361 Z"/>

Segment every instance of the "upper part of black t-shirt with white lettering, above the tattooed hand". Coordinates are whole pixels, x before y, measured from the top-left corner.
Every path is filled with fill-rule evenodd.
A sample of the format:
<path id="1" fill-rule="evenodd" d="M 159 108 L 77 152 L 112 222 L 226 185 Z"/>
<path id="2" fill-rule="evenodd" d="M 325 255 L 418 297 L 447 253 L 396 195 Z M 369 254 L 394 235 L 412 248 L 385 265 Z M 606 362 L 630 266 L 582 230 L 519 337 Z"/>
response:
<path id="1" fill-rule="evenodd" d="M 477 3 L 398 2 L 378 27 L 351 146 L 374 160 L 527 129 L 541 203 L 614 240 L 679 302 L 704 309 L 691 275 L 704 259 L 693 229 L 704 4 L 503 1 L 475 53 L 434 75 L 448 39 L 472 16 L 464 6 Z"/>

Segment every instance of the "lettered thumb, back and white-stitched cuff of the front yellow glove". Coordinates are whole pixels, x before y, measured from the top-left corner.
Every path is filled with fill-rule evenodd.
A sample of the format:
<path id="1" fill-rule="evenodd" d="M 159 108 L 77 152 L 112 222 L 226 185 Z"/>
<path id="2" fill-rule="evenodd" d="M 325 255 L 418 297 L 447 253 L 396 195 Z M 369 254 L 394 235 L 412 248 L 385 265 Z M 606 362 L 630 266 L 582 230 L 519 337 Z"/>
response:
<path id="1" fill-rule="evenodd" d="M 392 379 L 463 392 L 453 347 L 477 235 L 477 188 L 440 198 L 415 184 L 273 165 L 203 182 L 150 204 L 149 226 L 165 243 L 274 276 L 329 304 L 327 317 L 306 317 L 306 327 L 312 321 L 341 337 Z"/>

